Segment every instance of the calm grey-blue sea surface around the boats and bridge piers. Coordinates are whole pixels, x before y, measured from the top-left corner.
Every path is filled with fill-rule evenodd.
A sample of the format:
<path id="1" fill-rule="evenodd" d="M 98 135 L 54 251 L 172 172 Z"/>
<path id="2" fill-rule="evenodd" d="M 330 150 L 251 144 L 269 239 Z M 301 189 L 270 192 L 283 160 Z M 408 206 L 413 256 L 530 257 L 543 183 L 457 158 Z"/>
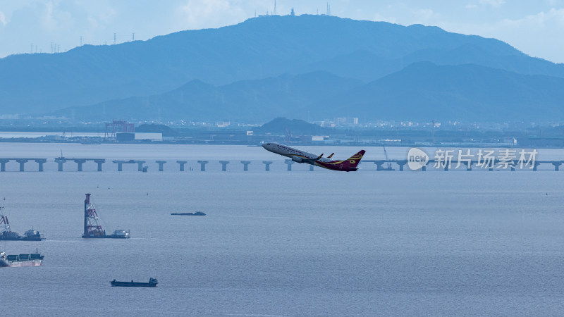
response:
<path id="1" fill-rule="evenodd" d="M 564 311 L 561 171 L 338 173 L 295 164 L 288 172 L 259 147 L 0 144 L 0 156 L 54 158 L 61 147 L 67 157 L 169 163 L 157 172 L 149 162 L 149 173 L 118 173 L 113 163 L 79 173 L 72 162 L 63 173 L 53 162 L 43 173 L 20 173 L 8 163 L 0 199 L 12 229 L 33 226 L 47 240 L 0 242 L 8 253 L 37 247 L 45 255 L 42 267 L 0 269 L 6 316 Z M 357 151 L 309 149 L 343 158 Z M 367 157 L 380 159 L 379 151 L 367 149 Z M 185 172 L 176 159 L 189 161 Z M 207 171 L 199 159 L 210 161 Z M 219 159 L 232 160 L 226 172 Z M 253 162 L 247 172 L 242 159 Z M 265 159 L 275 162 L 269 172 Z M 131 239 L 80 238 L 87 192 L 104 228 L 129 229 Z M 207 216 L 170 216 L 178 211 Z M 109 284 L 149 277 L 159 287 Z"/>

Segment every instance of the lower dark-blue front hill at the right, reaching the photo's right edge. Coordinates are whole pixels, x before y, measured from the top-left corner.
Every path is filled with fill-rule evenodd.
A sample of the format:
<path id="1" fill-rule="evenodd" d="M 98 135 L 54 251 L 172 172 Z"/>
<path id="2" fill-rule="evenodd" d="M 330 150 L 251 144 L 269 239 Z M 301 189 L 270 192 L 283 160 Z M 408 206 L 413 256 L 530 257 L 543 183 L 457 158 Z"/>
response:
<path id="1" fill-rule="evenodd" d="M 564 120 L 563 100 L 564 78 L 421 62 L 311 108 L 370 119 L 546 122 Z"/>

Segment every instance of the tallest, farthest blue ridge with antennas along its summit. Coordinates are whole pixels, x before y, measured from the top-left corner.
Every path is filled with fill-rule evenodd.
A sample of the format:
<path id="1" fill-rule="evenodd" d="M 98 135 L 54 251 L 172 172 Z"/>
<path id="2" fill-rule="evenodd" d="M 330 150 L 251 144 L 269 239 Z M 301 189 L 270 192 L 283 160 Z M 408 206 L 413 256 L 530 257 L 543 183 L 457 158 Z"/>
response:
<path id="1" fill-rule="evenodd" d="M 149 108 L 154 107 L 142 97 L 173 89 L 179 89 L 180 93 L 185 88 L 178 87 L 183 85 L 200 89 L 202 98 L 204 94 L 221 98 L 221 94 L 235 92 L 223 92 L 223 88 L 215 88 L 219 90 L 214 92 L 212 87 L 318 71 L 372 82 L 420 61 L 451 66 L 472 63 L 525 75 L 564 77 L 563 64 L 529 57 L 496 39 L 459 35 L 439 27 L 406 27 L 321 15 L 269 16 L 219 29 L 176 32 L 147 41 L 85 45 L 63 54 L 1 58 L 0 111 L 52 113 L 97 104 L 101 107 L 94 111 L 98 117 L 118 117 L 114 108 L 117 111 L 130 107 L 128 114 L 133 118 L 138 111 L 149 113 Z M 312 101 L 318 91 L 295 102 Z M 146 104 L 139 106 L 133 102 L 135 98 Z M 123 104 L 120 107 L 114 101 L 111 106 L 104 104 L 114 99 L 123 99 Z M 241 96 L 240 100 L 248 98 Z M 158 116 L 159 111 L 162 115 L 162 111 L 173 106 L 151 111 Z M 244 108 L 246 104 L 224 106 L 227 112 L 214 108 L 212 114 L 231 116 L 230 108 Z M 262 118 L 263 113 L 269 113 L 269 118 L 281 113 L 281 108 L 269 106 L 280 107 L 280 103 L 273 101 L 258 110 L 255 108 L 253 111 L 259 111 L 256 118 Z M 193 107 L 208 110 L 202 109 L 203 104 Z M 178 113 L 178 108 L 175 111 Z M 302 108 L 302 112 L 306 111 L 309 110 Z"/>

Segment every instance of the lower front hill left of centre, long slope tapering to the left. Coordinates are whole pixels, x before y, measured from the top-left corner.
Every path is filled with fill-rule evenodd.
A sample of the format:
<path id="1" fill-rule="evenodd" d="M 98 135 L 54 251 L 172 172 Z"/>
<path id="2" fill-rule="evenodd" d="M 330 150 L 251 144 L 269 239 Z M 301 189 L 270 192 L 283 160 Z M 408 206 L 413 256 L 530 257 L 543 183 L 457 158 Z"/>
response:
<path id="1" fill-rule="evenodd" d="M 111 116 L 125 120 L 185 118 L 264 123 L 277 116 L 307 118 L 310 110 L 319 113 L 309 106 L 320 99 L 344 94 L 361 85 L 360 80 L 325 72 L 242 80 L 223 86 L 192 80 L 164 94 L 104 101 L 50 114 L 76 120 L 103 120 Z"/>

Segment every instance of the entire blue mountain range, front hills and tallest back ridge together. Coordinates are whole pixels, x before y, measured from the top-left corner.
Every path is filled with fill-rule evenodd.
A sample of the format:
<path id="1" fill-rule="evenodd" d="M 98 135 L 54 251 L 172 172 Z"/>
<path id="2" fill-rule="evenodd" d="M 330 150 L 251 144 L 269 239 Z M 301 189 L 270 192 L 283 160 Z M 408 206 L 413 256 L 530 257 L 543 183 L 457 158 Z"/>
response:
<path id="1" fill-rule="evenodd" d="M 564 64 L 497 39 L 326 15 L 0 59 L 0 111 L 76 120 L 562 120 Z"/>

